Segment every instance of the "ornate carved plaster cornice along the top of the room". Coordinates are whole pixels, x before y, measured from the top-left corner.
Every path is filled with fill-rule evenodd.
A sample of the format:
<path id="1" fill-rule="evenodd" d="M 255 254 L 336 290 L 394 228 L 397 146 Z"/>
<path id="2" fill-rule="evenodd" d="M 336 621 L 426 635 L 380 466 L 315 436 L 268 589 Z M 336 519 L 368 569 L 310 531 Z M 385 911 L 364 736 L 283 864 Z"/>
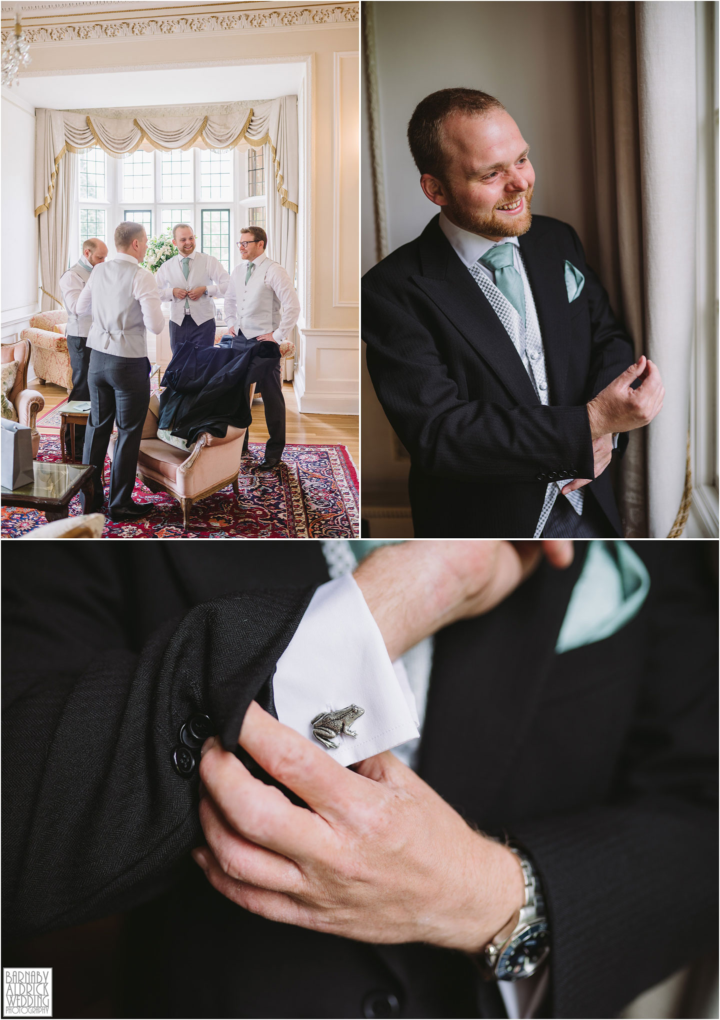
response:
<path id="1" fill-rule="evenodd" d="M 312 28 L 352 23 L 356 22 L 358 17 L 358 3 L 339 3 L 332 6 L 274 7 L 223 13 L 113 18 L 109 21 L 93 20 L 78 24 L 25 23 L 23 31 L 29 43 L 67 43 L 94 39 L 187 35 L 196 32 Z M 2 30 L 3 42 L 8 31 L 10 31 L 8 28 Z"/>

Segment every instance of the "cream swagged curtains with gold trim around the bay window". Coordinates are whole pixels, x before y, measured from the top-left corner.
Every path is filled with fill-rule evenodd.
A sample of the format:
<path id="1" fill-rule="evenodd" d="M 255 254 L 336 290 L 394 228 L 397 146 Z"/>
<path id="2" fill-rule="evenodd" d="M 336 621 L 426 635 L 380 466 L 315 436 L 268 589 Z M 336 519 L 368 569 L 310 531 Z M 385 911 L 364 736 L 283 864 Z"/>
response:
<path id="1" fill-rule="evenodd" d="M 298 213 L 298 101 L 282 96 L 234 113 L 173 116 L 101 117 L 61 110 L 36 111 L 35 214 L 39 217 L 43 309 L 59 307 L 59 274 L 67 266 L 67 244 L 74 214 L 79 152 L 99 145 L 119 158 L 137 149 L 227 150 L 241 142 L 267 146 L 275 187 L 267 196 L 268 254 L 295 274 Z M 60 198 L 60 183 L 62 197 Z M 68 190 L 69 189 L 69 190 Z M 241 224 L 242 225 L 242 224 Z M 54 288 L 54 290 L 53 290 Z M 51 295 L 52 297 L 48 297 Z M 47 303 L 46 303 L 47 302 Z"/>

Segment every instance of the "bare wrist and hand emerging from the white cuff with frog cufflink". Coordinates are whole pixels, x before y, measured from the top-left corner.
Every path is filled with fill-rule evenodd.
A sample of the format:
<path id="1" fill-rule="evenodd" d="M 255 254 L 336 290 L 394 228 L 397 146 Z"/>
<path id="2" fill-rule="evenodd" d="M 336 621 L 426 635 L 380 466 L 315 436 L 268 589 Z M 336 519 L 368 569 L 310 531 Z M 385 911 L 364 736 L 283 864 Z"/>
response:
<path id="1" fill-rule="evenodd" d="M 455 620 L 486 613 L 538 566 L 572 562 L 571 542 L 406 542 L 363 560 L 355 580 L 396 659 Z"/>

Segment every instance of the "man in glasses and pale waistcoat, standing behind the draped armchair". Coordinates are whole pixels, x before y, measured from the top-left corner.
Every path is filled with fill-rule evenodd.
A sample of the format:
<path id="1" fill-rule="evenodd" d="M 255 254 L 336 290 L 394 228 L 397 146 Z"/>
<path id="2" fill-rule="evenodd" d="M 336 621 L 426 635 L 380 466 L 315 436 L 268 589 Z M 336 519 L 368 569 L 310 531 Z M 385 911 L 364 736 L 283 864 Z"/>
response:
<path id="1" fill-rule="evenodd" d="M 300 315 L 300 302 L 293 283 L 278 262 L 265 254 L 267 235 L 261 226 L 244 226 L 238 247 L 243 259 L 230 274 L 225 291 L 227 334 L 223 347 L 247 350 L 258 340 L 281 344 L 293 332 Z M 262 402 L 269 438 L 265 459 L 258 471 L 270 471 L 285 450 L 285 398 L 280 363 L 262 382 Z"/>

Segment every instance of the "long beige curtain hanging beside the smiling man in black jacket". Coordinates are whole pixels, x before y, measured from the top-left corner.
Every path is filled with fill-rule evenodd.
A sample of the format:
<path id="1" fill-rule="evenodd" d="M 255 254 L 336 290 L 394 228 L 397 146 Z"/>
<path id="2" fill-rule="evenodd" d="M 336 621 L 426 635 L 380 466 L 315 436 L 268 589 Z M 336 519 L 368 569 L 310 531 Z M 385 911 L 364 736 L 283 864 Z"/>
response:
<path id="1" fill-rule="evenodd" d="M 586 11 L 600 273 L 635 354 L 658 365 L 666 390 L 655 421 L 630 434 L 625 533 L 678 537 L 690 498 L 695 4 L 602 2 Z"/>

